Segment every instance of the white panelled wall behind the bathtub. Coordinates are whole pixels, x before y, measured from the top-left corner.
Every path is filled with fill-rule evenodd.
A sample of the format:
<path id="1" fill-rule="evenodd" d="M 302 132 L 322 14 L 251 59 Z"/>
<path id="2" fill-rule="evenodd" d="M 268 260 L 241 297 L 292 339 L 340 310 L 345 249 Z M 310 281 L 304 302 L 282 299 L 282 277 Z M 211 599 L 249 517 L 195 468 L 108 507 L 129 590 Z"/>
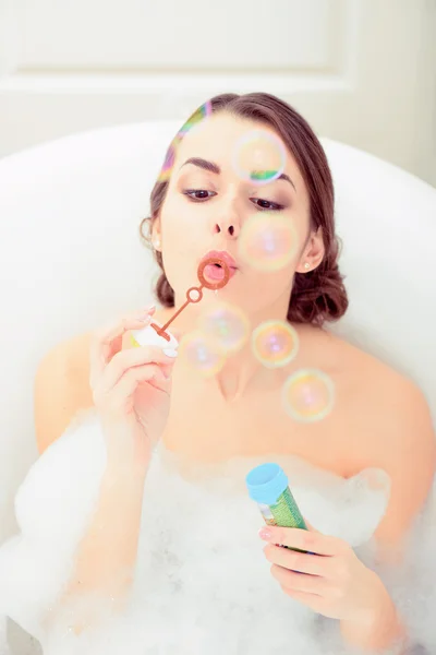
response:
<path id="1" fill-rule="evenodd" d="M 267 91 L 436 184 L 436 0 L 0 0 L 0 156 Z"/>

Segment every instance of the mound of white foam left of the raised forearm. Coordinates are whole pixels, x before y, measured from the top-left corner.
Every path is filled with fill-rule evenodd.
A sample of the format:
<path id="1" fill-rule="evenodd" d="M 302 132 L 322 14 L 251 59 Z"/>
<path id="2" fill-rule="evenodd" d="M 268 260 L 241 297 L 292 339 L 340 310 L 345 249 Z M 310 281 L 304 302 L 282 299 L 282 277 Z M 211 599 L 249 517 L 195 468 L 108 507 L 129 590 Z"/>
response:
<path id="1" fill-rule="evenodd" d="M 0 548 L 0 614 L 38 640 L 43 617 L 71 574 L 105 463 L 95 417 L 77 417 L 32 466 L 16 493 L 21 533 Z"/>

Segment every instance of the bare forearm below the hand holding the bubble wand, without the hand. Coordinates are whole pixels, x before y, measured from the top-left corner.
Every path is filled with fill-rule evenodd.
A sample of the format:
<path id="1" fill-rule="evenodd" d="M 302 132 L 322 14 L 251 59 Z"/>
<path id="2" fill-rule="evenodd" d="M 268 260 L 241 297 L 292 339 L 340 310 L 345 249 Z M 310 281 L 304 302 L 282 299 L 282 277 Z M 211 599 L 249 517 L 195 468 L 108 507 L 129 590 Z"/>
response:
<path id="1" fill-rule="evenodd" d="M 59 608 L 69 611 L 69 626 L 76 633 L 96 624 L 99 610 L 106 612 L 109 606 L 111 614 L 123 607 L 136 561 L 146 471 L 144 461 L 141 465 L 129 458 L 107 462 L 96 510 L 60 598 Z M 56 621 L 59 608 L 49 621 Z"/>

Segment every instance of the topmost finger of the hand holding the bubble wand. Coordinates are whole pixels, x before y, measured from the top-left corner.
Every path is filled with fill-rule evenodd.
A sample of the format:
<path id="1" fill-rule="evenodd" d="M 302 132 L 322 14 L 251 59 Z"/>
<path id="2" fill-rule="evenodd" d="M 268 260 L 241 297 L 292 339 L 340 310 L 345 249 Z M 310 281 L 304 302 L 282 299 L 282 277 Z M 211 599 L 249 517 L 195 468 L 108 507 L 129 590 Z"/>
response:
<path id="1" fill-rule="evenodd" d="M 113 355 L 121 349 L 122 337 L 129 330 L 141 330 L 150 322 L 152 315 L 156 311 L 154 306 L 146 310 L 131 314 L 121 319 L 99 332 L 96 332 L 89 352 L 90 361 L 90 385 L 94 388 L 95 381 L 101 376 L 105 367 L 112 359 Z"/>

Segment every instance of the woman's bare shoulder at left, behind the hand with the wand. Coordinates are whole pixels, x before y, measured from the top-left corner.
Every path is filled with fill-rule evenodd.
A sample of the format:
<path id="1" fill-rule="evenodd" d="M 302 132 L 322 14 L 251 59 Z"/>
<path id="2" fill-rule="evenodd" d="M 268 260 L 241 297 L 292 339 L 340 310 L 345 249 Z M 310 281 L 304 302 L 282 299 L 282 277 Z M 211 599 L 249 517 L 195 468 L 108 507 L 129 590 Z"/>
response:
<path id="1" fill-rule="evenodd" d="M 34 383 L 35 430 L 43 453 L 80 409 L 93 405 L 89 388 L 92 333 L 60 342 L 41 359 Z"/>

